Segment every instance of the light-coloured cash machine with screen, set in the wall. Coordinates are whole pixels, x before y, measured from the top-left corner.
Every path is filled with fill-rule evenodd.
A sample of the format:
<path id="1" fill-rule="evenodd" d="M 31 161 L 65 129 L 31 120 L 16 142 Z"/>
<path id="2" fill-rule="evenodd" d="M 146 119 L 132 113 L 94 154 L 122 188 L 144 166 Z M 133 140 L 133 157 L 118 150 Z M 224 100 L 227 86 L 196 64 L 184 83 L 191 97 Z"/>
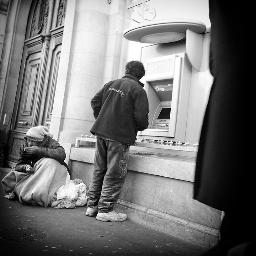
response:
<path id="1" fill-rule="evenodd" d="M 146 62 L 149 127 L 137 139 L 185 142 L 192 66 L 186 53 Z"/>

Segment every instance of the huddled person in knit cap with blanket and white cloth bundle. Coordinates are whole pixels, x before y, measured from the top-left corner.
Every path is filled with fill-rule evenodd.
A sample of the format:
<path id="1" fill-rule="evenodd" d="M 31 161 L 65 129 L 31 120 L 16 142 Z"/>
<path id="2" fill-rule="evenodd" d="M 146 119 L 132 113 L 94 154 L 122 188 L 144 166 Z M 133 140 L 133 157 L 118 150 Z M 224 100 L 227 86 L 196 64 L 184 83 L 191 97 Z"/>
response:
<path id="1" fill-rule="evenodd" d="M 86 186 L 80 179 L 70 180 L 70 170 L 64 162 L 66 153 L 44 126 L 30 128 L 20 148 L 15 171 L 1 181 L 9 195 L 21 203 L 74 208 L 87 203 Z"/>

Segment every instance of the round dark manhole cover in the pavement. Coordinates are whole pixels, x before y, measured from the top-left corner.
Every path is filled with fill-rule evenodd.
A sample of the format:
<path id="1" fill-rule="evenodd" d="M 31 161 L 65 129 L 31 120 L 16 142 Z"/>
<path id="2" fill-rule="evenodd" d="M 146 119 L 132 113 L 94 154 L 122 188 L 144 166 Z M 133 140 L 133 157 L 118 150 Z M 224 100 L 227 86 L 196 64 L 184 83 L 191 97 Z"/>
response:
<path id="1" fill-rule="evenodd" d="M 6 240 L 12 241 L 34 241 L 40 240 L 47 236 L 47 233 L 38 229 L 12 229 L 5 231 L 1 237 Z"/>

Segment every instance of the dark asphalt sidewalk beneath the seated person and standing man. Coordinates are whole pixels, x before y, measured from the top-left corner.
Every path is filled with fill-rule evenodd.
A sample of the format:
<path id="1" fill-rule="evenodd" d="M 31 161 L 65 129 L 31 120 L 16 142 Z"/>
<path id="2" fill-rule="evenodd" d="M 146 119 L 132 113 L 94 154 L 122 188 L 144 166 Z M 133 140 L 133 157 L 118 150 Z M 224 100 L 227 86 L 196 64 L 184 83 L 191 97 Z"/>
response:
<path id="1" fill-rule="evenodd" d="M 0 178 L 10 171 L 0 168 Z M 2 256 L 200 255 L 206 248 L 129 220 L 101 222 L 74 209 L 31 206 L 4 198 L 0 187 Z"/>

